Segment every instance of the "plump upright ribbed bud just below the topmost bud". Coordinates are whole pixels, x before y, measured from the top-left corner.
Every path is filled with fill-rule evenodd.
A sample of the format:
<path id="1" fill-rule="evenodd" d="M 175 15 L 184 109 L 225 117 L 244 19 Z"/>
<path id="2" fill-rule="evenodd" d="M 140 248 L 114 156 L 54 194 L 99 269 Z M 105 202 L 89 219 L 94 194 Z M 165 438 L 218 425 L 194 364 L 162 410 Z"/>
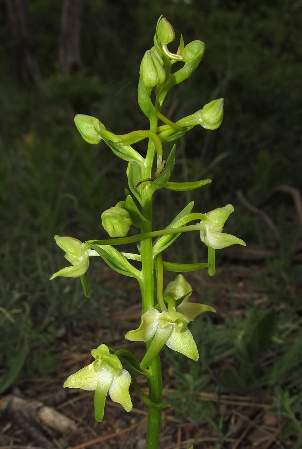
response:
<path id="1" fill-rule="evenodd" d="M 165 71 L 152 50 L 147 50 L 140 66 L 140 76 L 146 87 L 156 87 L 165 82 Z"/>

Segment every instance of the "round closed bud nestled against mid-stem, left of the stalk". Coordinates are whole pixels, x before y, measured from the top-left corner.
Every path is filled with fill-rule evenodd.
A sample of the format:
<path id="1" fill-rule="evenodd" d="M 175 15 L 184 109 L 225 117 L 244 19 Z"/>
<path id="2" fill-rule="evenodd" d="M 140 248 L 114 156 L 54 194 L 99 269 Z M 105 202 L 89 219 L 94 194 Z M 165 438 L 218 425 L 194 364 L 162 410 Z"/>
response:
<path id="1" fill-rule="evenodd" d="M 110 237 L 125 237 L 131 226 L 131 218 L 126 209 L 114 206 L 102 214 L 102 226 Z"/>

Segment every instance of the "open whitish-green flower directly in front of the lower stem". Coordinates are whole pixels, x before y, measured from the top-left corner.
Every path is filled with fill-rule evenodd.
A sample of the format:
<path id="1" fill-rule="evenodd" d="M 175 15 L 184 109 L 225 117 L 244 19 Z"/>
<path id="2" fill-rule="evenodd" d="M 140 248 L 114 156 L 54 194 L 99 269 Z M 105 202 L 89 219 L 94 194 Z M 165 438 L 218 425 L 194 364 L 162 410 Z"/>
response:
<path id="1" fill-rule="evenodd" d="M 127 340 L 145 342 L 154 337 L 141 362 L 141 368 L 147 368 L 165 344 L 197 361 L 197 346 L 187 325 L 197 315 L 206 311 L 215 312 L 210 306 L 185 301 L 168 312 L 149 309 L 143 313 L 140 327 L 125 335 Z"/>

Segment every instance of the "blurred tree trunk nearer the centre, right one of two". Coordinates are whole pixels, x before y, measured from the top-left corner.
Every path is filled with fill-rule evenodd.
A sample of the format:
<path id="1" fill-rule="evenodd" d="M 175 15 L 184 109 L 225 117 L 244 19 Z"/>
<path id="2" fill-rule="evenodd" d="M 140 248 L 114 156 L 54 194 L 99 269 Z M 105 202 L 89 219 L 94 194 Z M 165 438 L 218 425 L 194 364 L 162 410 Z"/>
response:
<path id="1" fill-rule="evenodd" d="M 64 0 L 59 44 L 60 68 L 72 74 L 82 68 L 80 55 L 81 12 L 84 0 Z"/>

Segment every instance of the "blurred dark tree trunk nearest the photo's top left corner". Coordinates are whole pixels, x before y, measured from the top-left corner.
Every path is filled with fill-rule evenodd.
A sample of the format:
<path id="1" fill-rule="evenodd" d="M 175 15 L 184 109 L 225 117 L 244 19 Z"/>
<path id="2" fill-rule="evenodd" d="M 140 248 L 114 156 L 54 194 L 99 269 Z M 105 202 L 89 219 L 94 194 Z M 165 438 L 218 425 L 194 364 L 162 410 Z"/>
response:
<path id="1" fill-rule="evenodd" d="M 35 55 L 29 25 L 27 0 L 6 0 L 17 80 L 25 89 L 40 86 L 39 64 Z"/>

